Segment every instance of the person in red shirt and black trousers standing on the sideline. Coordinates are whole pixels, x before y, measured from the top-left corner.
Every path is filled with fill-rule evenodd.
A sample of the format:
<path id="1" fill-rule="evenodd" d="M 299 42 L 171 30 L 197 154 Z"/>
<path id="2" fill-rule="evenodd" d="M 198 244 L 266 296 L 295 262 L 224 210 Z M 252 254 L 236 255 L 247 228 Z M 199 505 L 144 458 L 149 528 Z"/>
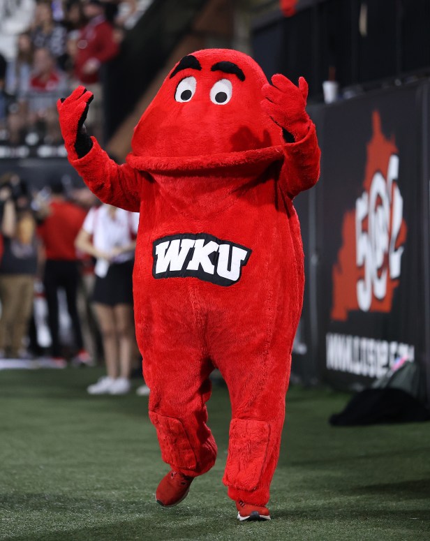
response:
<path id="1" fill-rule="evenodd" d="M 38 235 L 45 247 L 45 270 L 43 287 L 48 309 L 48 323 L 52 338 L 52 357 L 64 364 L 64 355 L 59 340 L 58 292 L 66 293 L 67 309 L 71 317 L 77 354 L 74 363 L 91 364 L 92 360 L 84 349 L 80 318 L 77 312 L 77 288 L 80 283 L 79 260 L 75 250 L 75 238 L 84 222 L 86 212 L 66 201 L 61 182 L 52 185 L 52 197 L 41 213 L 42 222 Z"/>

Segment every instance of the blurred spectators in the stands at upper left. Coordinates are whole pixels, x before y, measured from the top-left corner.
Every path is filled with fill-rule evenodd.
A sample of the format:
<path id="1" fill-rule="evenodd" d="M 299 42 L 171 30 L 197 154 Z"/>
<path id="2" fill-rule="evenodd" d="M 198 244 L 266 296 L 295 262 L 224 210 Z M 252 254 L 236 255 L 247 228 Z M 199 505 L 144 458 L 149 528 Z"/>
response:
<path id="1" fill-rule="evenodd" d="M 87 127 L 101 138 L 103 66 L 147 0 L 0 0 L 0 144 L 61 144 L 57 99 L 94 92 Z"/>

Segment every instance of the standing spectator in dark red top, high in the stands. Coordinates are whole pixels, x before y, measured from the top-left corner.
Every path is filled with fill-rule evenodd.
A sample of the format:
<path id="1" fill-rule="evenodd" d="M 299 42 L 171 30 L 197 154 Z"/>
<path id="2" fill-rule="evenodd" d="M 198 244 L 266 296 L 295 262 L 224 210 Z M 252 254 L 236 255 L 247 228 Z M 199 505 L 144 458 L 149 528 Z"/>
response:
<path id="1" fill-rule="evenodd" d="M 103 138 L 101 68 L 105 62 L 117 55 L 118 43 L 114 39 L 112 24 L 105 20 L 103 3 L 100 0 L 87 0 L 84 3 L 84 15 L 88 23 L 81 29 L 77 40 L 75 77 L 78 84 L 83 84 L 94 94 L 87 127 L 96 126 L 99 131 L 94 135 Z"/>

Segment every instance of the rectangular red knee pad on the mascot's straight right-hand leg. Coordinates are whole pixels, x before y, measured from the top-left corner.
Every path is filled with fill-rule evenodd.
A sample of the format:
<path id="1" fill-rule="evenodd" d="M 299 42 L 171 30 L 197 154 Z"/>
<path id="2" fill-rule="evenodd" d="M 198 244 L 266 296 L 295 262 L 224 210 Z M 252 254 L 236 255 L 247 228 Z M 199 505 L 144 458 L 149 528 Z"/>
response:
<path id="1" fill-rule="evenodd" d="M 224 484 L 247 491 L 258 487 L 269 435 L 270 425 L 266 421 L 232 419 Z"/>

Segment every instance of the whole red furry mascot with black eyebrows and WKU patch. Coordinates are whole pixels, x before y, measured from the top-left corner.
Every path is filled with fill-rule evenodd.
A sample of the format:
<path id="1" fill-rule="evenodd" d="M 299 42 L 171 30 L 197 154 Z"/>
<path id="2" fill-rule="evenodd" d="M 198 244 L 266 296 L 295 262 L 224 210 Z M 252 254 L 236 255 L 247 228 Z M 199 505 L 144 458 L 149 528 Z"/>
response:
<path id="1" fill-rule="evenodd" d="M 83 126 L 84 87 L 58 103 L 68 159 L 103 202 L 140 212 L 133 274 L 149 417 L 172 468 L 156 491 L 179 503 L 216 459 L 205 403 L 216 366 L 232 404 L 223 477 L 238 518 L 265 505 L 285 415 L 304 269 L 292 199 L 316 183 L 307 84 L 267 83 L 233 50 L 177 64 L 117 165 Z"/>

